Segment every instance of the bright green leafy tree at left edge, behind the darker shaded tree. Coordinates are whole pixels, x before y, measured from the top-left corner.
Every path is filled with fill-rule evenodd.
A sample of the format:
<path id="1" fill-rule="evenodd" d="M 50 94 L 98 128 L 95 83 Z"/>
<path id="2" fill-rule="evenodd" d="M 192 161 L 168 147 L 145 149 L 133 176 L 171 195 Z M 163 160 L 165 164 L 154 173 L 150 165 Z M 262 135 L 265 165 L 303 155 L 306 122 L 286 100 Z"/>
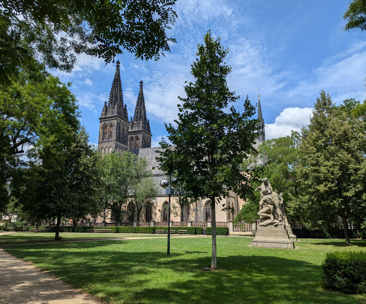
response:
<path id="1" fill-rule="evenodd" d="M 72 137 L 68 134 L 78 128 L 78 118 L 75 96 L 42 64 L 34 66 L 34 70 L 23 69 L 11 85 L 0 87 L 2 203 L 8 202 L 8 183 L 16 168 L 27 166 L 21 158 L 26 149 L 70 145 Z M 0 210 L 3 209 L 1 204 Z"/>

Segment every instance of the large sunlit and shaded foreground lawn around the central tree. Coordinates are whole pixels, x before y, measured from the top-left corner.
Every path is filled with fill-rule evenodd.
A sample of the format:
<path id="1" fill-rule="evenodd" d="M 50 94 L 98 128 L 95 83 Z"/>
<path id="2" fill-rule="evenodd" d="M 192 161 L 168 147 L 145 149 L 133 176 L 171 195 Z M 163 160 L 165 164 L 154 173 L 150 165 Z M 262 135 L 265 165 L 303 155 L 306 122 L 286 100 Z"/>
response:
<path id="1" fill-rule="evenodd" d="M 108 303 L 366 303 L 366 297 L 322 287 L 326 252 L 365 250 L 366 241 L 302 239 L 300 249 L 248 247 L 251 238 L 105 240 L 5 246 L 66 283 Z"/>

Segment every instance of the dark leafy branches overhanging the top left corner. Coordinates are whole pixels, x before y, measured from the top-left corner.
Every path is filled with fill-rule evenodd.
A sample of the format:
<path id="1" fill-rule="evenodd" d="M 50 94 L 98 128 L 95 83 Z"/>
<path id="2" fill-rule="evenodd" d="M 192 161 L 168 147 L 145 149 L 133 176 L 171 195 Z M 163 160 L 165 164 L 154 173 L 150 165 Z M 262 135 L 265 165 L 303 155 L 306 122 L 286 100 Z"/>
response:
<path id="1" fill-rule="evenodd" d="M 175 0 L 0 1 L 0 83 L 34 63 L 70 72 L 77 55 L 104 58 L 126 50 L 158 60 L 170 51 L 165 31 L 175 23 Z"/>

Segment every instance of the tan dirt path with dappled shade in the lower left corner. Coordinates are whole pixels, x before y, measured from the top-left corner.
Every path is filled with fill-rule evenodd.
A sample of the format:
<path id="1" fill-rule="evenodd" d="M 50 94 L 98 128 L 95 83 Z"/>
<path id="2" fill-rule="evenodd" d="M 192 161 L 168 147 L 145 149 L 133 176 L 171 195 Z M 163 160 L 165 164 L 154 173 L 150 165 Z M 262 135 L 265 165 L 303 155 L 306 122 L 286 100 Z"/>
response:
<path id="1" fill-rule="evenodd" d="M 101 303 L 3 249 L 0 249 L 0 261 L 0 303 Z"/>

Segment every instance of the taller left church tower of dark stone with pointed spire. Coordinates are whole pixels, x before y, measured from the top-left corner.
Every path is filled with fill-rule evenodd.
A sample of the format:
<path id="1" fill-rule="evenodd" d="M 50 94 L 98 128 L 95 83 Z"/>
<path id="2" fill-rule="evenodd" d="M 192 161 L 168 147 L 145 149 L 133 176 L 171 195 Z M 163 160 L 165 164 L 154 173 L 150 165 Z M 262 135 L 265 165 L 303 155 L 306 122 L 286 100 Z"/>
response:
<path id="1" fill-rule="evenodd" d="M 116 73 L 113 78 L 108 105 L 105 101 L 99 118 L 98 150 L 102 152 L 102 155 L 113 151 L 121 153 L 128 149 L 127 107 L 123 104 L 119 60 L 116 63 Z"/>

